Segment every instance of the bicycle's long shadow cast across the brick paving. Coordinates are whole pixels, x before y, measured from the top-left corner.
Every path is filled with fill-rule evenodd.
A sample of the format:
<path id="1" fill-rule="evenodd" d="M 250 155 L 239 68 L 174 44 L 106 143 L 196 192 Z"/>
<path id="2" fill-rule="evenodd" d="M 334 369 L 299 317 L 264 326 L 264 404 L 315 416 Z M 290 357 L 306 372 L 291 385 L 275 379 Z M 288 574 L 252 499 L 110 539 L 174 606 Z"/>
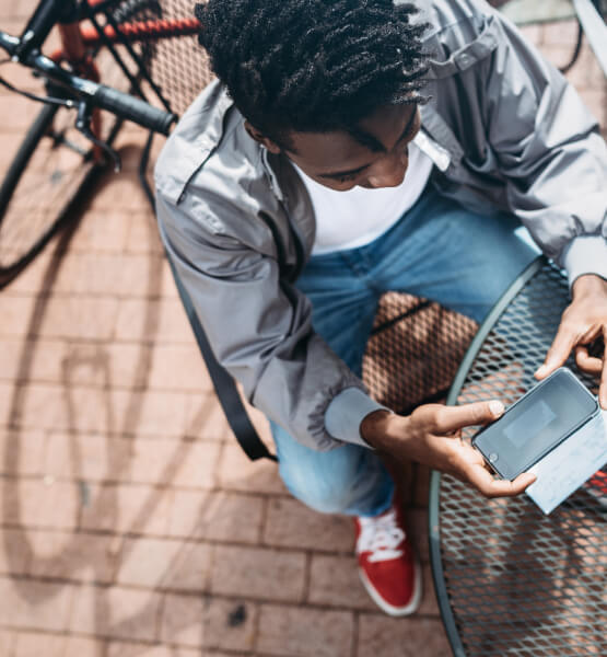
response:
<path id="1" fill-rule="evenodd" d="M 101 193 L 107 187 L 109 180 L 110 176 L 105 176 L 96 192 Z M 109 187 L 107 191 L 110 193 Z M 85 210 L 86 207 L 84 206 L 83 209 Z M 54 251 L 42 278 L 42 287 L 36 295 L 35 303 L 27 320 L 25 338 L 19 356 L 16 373 L 16 380 L 23 382 L 23 384 L 14 387 L 12 399 L 10 400 L 8 422 L 9 439 L 4 453 L 4 472 L 19 472 L 19 462 L 22 458 L 23 449 L 22 436 L 24 433 L 21 417 L 27 401 L 27 382 L 31 379 L 35 360 L 40 356 L 39 349 L 42 348 L 38 344 L 40 342 L 38 328 L 43 324 L 49 307 L 52 303 L 54 286 L 61 272 L 65 255 L 69 252 L 70 242 L 78 230 L 79 217 L 80 215 L 74 212 L 73 222 L 59 235 L 54 245 Z M 155 241 L 155 223 L 151 218 L 149 223 L 150 243 Z M 191 623 L 200 623 L 200 619 L 194 619 L 191 613 L 174 613 L 171 615 L 170 620 L 165 622 L 164 627 L 161 627 L 161 614 L 159 613 L 156 595 L 163 593 L 167 588 L 171 589 L 172 581 L 184 578 L 184 570 L 187 570 L 188 568 L 191 546 L 195 544 L 192 541 L 180 541 L 178 550 L 174 553 L 171 561 L 163 565 L 163 572 L 159 573 L 157 576 L 159 585 L 151 591 L 150 602 L 140 606 L 137 610 L 129 610 L 124 618 L 119 620 L 116 620 L 115 614 L 113 613 L 115 610 L 113 609 L 112 588 L 114 585 L 119 584 L 117 579 L 119 565 L 128 560 L 136 544 L 135 541 L 128 539 L 141 535 L 155 515 L 165 512 L 164 507 L 166 505 L 167 495 L 170 494 L 167 493 L 167 489 L 175 481 L 179 469 L 188 461 L 188 459 L 192 458 L 194 454 L 192 448 L 196 442 L 187 440 L 186 438 L 187 436 L 200 435 L 205 423 L 207 423 L 209 418 L 212 418 L 212 410 L 215 406 L 215 402 L 213 397 L 209 395 L 201 399 L 196 408 L 196 413 L 192 414 L 190 424 L 187 427 L 187 436 L 184 435 L 180 436 L 179 439 L 176 439 L 175 448 L 162 468 L 159 477 L 161 484 L 159 486 L 149 486 L 147 488 L 145 495 L 139 499 L 137 508 L 130 515 L 128 523 L 120 527 L 119 487 L 112 484 L 124 480 L 132 464 L 132 440 L 142 418 L 152 368 L 152 348 L 148 348 L 148 346 L 151 345 L 153 347 L 159 334 L 160 304 L 153 303 L 152 300 L 157 299 L 161 293 L 163 272 L 161 267 L 154 266 L 156 263 L 154 258 L 150 258 L 149 262 L 150 266 L 148 268 L 145 291 L 147 302 L 144 320 L 142 322 L 144 331 L 144 336 L 142 337 L 144 337 L 144 339 L 139 344 L 139 354 L 132 374 L 132 385 L 128 392 L 125 410 L 121 411 L 119 407 L 115 406 L 110 394 L 110 372 L 113 365 L 112 356 L 108 351 L 110 341 L 97 343 L 92 346 L 87 345 L 85 347 L 77 343 L 71 343 L 69 345 L 68 354 L 65 356 L 61 364 L 62 373 L 60 384 L 63 391 L 62 403 L 67 415 L 67 434 L 69 436 L 70 445 L 70 479 L 79 484 L 73 488 L 73 495 L 77 495 L 75 491 L 79 492 L 79 499 L 73 506 L 75 517 L 71 519 L 75 530 L 65 534 L 65 540 L 58 546 L 56 552 L 46 555 L 37 553 L 31 532 L 23 521 L 24 500 L 16 491 L 15 480 L 13 483 L 15 484 L 16 494 L 4 495 L 2 502 L 3 517 L 10 519 L 11 525 L 11 532 L 3 532 L 3 542 L 9 572 L 14 570 L 14 573 L 19 573 L 20 568 L 17 567 L 17 564 L 23 563 L 25 560 L 30 564 L 30 573 L 47 573 L 50 574 L 50 578 L 54 577 L 54 573 L 61 573 L 61 579 L 68 579 L 70 583 L 78 583 L 79 577 L 77 573 L 84 568 L 89 570 L 86 583 L 80 585 L 81 589 L 86 587 L 89 593 L 92 596 L 91 626 L 86 629 L 86 633 L 91 632 L 95 636 L 121 637 L 122 639 L 126 639 L 131 636 L 137 636 L 138 633 L 140 633 L 142 624 L 147 626 L 153 624 L 153 631 L 150 632 L 147 630 L 145 635 L 153 635 L 156 638 L 163 636 L 170 641 L 172 636 L 176 636 L 179 632 L 189 627 Z M 103 426 L 105 428 L 103 434 L 106 438 L 105 458 L 107 480 L 102 483 L 107 483 L 109 485 L 101 485 L 96 488 L 90 486 L 90 482 L 87 482 L 83 475 L 85 471 L 83 463 L 85 454 L 82 449 L 82 440 L 85 436 L 81 435 L 82 431 L 80 427 L 82 423 L 80 422 L 79 415 L 85 413 L 86 408 L 83 408 L 80 405 L 81 391 L 79 391 L 78 385 L 82 380 L 82 371 L 84 370 L 93 381 L 101 382 L 101 385 L 94 391 L 91 389 L 90 393 L 101 394 L 103 397 Z M 107 439 L 109 436 L 124 437 L 127 449 L 113 449 L 110 440 Z M 131 443 L 130 447 L 129 442 Z M 153 440 L 150 442 L 152 443 Z M 151 445 L 151 448 L 153 449 L 153 445 Z M 223 449 L 224 446 L 222 443 L 220 446 L 220 457 Z M 258 480 L 259 485 L 264 487 L 267 484 L 268 476 L 278 476 L 276 474 L 276 469 L 272 469 L 272 473 L 273 474 L 268 475 L 268 469 L 260 468 L 259 474 L 255 474 L 250 477 L 250 481 L 246 482 L 245 488 L 255 489 L 257 485 L 256 480 Z M 212 507 L 209 505 L 210 503 L 208 499 L 201 498 L 201 503 L 195 509 L 194 521 L 191 523 L 191 538 L 194 541 L 196 541 L 196 537 L 199 535 L 199 526 L 212 522 L 213 518 L 220 518 L 225 516 L 225 514 L 234 512 L 234 507 L 222 504 L 221 499 L 218 503 L 215 498 Z M 107 531 L 102 530 L 98 533 L 98 538 L 100 541 L 104 541 L 109 535 L 109 549 L 112 552 L 112 574 L 109 577 L 107 564 L 100 562 L 94 551 L 92 553 L 83 551 L 82 544 L 78 540 L 79 531 L 83 529 L 82 520 L 84 509 L 87 517 L 96 518 L 97 527 L 101 525 L 104 528 L 108 528 Z M 238 512 L 236 509 L 235 516 L 242 518 L 243 514 Z M 69 566 L 66 566 L 66 564 L 69 564 Z M 31 578 L 28 577 L 13 574 L 11 575 L 11 581 L 17 595 L 32 607 L 43 604 L 46 599 L 57 595 L 56 588 L 33 589 L 28 586 L 31 583 Z M 89 586 L 89 583 L 91 586 Z M 200 591 L 197 592 L 210 596 L 208 584 L 201 585 Z M 197 609 L 196 606 L 194 606 L 194 608 Z M 250 614 L 248 614 L 247 618 L 246 607 L 242 608 L 242 606 L 236 606 L 235 608 L 230 608 L 230 606 L 227 606 L 222 609 L 224 612 L 222 621 L 226 633 L 242 631 L 244 625 L 248 629 L 248 625 L 250 624 Z M 75 632 L 80 632 L 78 627 L 74 630 Z M 107 644 L 100 644 L 98 657 L 104 657 L 107 654 Z M 113 655 L 115 653 L 113 652 Z"/>

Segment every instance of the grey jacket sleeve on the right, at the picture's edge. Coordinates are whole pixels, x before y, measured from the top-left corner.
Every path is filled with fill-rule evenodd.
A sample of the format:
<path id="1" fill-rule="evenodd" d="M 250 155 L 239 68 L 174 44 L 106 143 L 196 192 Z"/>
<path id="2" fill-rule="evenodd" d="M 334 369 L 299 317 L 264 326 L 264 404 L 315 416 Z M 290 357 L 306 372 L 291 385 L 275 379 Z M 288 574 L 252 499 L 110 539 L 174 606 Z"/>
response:
<path id="1" fill-rule="evenodd" d="M 607 277 L 607 149 L 597 122 L 507 20 L 493 20 L 486 126 L 510 208 L 548 256 L 569 266 L 571 281 L 588 272 Z M 582 251 L 592 257 L 573 257 Z"/>

